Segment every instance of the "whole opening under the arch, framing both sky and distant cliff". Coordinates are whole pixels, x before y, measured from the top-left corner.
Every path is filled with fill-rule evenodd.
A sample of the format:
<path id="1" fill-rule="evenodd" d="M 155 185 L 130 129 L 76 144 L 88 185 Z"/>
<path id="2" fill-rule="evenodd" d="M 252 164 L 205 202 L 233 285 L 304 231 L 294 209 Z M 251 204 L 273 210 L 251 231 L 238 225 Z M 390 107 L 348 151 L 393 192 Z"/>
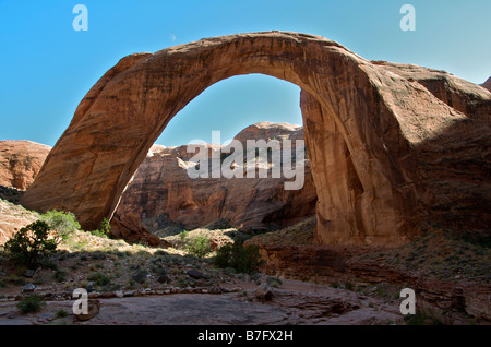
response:
<path id="1" fill-rule="evenodd" d="M 130 239 L 132 235 L 144 235 L 143 227 L 154 235 L 168 236 L 207 225 L 274 230 L 314 215 L 316 195 L 309 164 L 299 167 L 301 172 L 295 172 L 302 176 L 302 186 L 286 190 L 285 182 L 295 181 L 296 177 L 286 179 L 280 163 L 279 177 L 273 177 L 272 147 L 261 164 L 267 167 L 267 178 L 248 177 L 247 170 L 242 171 L 242 178 L 221 172 L 218 178 L 192 179 L 191 172 L 187 172 L 195 155 L 194 149 L 188 151 L 189 144 L 211 146 L 217 139 L 212 136 L 213 131 L 214 134 L 219 131 L 220 169 L 230 155 L 227 145 L 232 139 L 240 143 L 242 155 L 238 163 L 242 168 L 248 163 L 248 140 L 264 140 L 266 144 L 278 141 L 277 154 L 286 151 L 283 140 L 289 140 L 295 159 L 297 143 L 300 141 L 304 146 L 300 124 L 300 89 L 288 82 L 264 75 L 241 75 L 209 86 L 176 115 L 152 146 L 152 153 L 121 194 L 112 216 L 113 234 Z M 166 141 L 168 137 L 171 140 Z M 161 146 L 169 142 L 176 146 Z M 260 158 L 259 155 L 255 156 Z M 308 160 L 306 154 L 303 157 Z M 211 174 L 213 165 L 208 164 Z M 233 163 L 232 167 L 239 165 Z"/>

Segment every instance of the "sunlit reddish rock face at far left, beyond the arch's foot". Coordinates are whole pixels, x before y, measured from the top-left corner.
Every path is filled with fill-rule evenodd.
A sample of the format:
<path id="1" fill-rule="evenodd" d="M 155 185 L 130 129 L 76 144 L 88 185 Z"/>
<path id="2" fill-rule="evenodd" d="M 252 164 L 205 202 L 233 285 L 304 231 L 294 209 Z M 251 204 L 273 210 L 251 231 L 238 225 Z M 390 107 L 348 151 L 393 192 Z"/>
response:
<path id="1" fill-rule="evenodd" d="M 50 149 L 32 141 L 0 141 L 0 186 L 26 190 Z"/>

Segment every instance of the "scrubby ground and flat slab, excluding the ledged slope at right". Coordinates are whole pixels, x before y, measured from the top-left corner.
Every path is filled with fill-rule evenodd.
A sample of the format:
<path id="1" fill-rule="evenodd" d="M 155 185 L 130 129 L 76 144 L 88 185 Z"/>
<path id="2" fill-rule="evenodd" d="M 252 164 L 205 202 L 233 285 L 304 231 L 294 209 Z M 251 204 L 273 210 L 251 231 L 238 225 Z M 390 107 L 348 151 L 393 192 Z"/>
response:
<path id="1" fill-rule="evenodd" d="M 0 204 L 2 218 L 9 215 L 11 223 L 25 225 L 39 217 L 4 200 Z M 218 244 L 230 241 L 232 231 L 224 229 L 218 237 L 219 230 L 200 229 L 187 237 L 202 234 Z M 32 270 L 2 254 L 0 324 L 406 323 L 396 298 L 218 268 L 211 261 L 213 253 L 190 255 L 180 239 L 173 237 L 176 248 L 149 248 L 76 230 Z M 262 284 L 273 292 L 268 300 L 259 290 Z M 88 321 L 73 314 L 75 288 L 86 288 L 91 300 L 99 300 L 98 314 Z M 34 295 L 44 302 L 40 311 L 21 313 L 17 303 Z"/>

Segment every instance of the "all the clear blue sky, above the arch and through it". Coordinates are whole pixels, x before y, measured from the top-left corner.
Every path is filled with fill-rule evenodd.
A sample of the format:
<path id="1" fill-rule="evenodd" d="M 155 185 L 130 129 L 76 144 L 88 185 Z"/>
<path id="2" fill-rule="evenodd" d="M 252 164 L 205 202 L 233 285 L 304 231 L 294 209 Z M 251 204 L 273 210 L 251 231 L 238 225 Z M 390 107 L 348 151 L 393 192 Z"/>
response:
<path id="1" fill-rule="evenodd" d="M 88 31 L 75 32 L 76 4 Z M 403 32 L 403 4 L 416 31 Z M 491 75 L 489 0 L 0 0 L 0 140 L 53 146 L 76 106 L 118 60 L 203 37 L 291 31 L 334 39 L 367 59 L 446 70 L 474 83 Z M 299 88 L 262 75 L 221 81 L 190 103 L 157 143 L 221 140 L 259 121 L 301 124 Z"/>

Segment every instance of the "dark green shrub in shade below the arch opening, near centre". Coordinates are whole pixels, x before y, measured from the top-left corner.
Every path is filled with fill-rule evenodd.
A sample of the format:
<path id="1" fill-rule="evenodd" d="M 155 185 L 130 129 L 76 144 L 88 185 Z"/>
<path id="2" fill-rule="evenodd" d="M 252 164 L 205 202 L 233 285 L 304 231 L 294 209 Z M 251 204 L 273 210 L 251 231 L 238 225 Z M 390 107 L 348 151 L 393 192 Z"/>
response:
<path id="1" fill-rule="evenodd" d="M 243 239 L 238 239 L 219 248 L 214 263 L 218 267 L 232 267 L 241 273 L 253 274 L 259 271 L 263 261 L 258 246 L 244 247 Z"/>

